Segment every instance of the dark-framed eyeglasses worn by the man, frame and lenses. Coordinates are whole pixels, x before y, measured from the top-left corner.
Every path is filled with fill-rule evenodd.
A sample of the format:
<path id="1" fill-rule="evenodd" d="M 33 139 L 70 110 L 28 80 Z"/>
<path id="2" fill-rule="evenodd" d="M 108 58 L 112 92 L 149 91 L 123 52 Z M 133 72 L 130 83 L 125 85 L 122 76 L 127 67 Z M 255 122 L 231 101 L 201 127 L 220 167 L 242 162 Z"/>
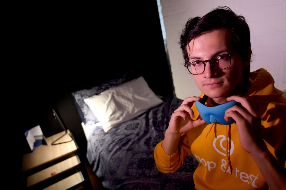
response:
<path id="1" fill-rule="evenodd" d="M 185 64 L 184 66 L 188 69 L 190 74 L 199 75 L 204 72 L 206 69 L 206 62 L 210 62 L 212 68 L 216 70 L 226 69 L 231 66 L 231 56 L 233 56 L 236 52 L 232 54 L 223 54 L 217 57 L 211 58 L 210 60 L 205 61 L 194 61 Z"/>

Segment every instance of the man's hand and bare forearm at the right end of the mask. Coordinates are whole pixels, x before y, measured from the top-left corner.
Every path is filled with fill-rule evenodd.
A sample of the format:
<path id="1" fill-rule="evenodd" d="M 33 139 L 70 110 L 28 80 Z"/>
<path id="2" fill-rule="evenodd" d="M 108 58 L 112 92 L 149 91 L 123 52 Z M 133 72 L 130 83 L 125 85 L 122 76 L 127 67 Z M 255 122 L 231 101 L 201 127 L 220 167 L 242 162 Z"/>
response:
<path id="1" fill-rule="evenodd" d="M 244 96 L 227 98 L 231 100 L 241 103 L 242 108 L 227 109 L 225 120 L 232 117 L 236 121 L 241 147 L 251 155 L 271 190 L 285 189 L 286 170 L 267 149 L 261 135 L 261 118 L 253 100 Z"/>

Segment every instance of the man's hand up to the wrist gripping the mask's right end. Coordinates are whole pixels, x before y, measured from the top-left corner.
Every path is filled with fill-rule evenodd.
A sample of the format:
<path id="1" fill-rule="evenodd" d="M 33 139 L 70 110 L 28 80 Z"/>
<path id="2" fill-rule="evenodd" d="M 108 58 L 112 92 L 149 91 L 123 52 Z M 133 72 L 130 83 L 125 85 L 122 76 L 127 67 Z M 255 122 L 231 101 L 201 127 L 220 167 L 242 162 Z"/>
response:
<path id="1" fill-rule="evenodd" d="M 236 121 L 241 147 L 249 154 L 267 149 L 261 135 L 261 118 L 253 100 L 245 96 L 231 96 L 227 101 L 235 100 L 242 108 L 233 106 L 225 111 L 225 120 L 232 117 Z"/>

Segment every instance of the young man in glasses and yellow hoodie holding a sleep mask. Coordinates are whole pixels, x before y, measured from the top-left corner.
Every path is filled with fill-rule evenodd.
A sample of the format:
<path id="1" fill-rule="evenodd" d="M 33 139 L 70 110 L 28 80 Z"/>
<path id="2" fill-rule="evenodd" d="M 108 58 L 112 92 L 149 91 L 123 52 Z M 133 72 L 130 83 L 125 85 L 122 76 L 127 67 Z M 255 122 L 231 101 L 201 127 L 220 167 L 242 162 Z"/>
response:
<path id="1" fill-rule="evenodd" d="M 266 70 L 249 73 L 245 18 L 228 7 L 191 18 L 180 45 L 202 95 L 186 98 L 172 114 L 154 151 L 159 171 L 175 172 L 193 154 L 200 162 L 194 172 L 196 189 L 285 189 L 286 98 Z M 226 121 L 233 118 L 235 123 L 206 124 L 194 103 L 204 94 L 208 107 L 241 103 L 224 113 Z"/>

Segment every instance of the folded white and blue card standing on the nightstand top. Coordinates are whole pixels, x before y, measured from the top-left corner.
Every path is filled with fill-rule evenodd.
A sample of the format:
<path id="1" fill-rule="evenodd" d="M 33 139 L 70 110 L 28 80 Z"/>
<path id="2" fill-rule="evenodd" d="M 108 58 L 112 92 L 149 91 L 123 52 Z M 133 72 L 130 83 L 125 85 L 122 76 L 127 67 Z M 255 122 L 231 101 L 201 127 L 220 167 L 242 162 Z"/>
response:
<path id="1" fill-rule="evenodd" d="M 29 144 L 31 151 L 34 151 L 35 147 L 39 145 L 42 145 L 42 144 L 47 145 L 47 140 L 45 136 L 43 135 L 43 132 L 39 125 L 28 129 L 25 132 L 25 136 L 26 136 L 26 139 L 27 139 L 27 142 Z"/>

